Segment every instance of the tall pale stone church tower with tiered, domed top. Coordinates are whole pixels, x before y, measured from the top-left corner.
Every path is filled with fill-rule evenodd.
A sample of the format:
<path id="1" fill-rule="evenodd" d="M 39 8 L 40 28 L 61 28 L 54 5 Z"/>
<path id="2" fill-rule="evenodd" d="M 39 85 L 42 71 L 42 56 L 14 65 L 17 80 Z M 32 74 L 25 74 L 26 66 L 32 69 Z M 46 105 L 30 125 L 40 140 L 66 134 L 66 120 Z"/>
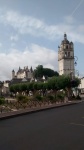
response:
<path id="1" fill-rule="evenodd" d="M 74 70 L 74 45 L 67 40 L 66 33 L 61 45 L 58 46 L 59 75 L 75 73 Z"/>

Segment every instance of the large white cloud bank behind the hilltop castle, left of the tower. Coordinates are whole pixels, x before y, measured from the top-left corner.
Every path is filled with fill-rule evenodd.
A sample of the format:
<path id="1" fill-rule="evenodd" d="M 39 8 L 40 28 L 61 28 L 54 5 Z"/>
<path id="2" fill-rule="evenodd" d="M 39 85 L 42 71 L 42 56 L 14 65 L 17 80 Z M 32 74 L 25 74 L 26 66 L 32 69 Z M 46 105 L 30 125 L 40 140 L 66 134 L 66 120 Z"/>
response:
<path id="1" fill-rule="evenodd" d="M 0 53 L 0 80 L 11 80 L 11 73 L 14 69 L 18 71 L 19 66 L 23 68 L 32 66 L 33 69 L 39 64 L 54 70 L 58 70 L 57 53 L 36 44 L 26 47 L 23 52 L 11 49 L 9 54 Z"/>

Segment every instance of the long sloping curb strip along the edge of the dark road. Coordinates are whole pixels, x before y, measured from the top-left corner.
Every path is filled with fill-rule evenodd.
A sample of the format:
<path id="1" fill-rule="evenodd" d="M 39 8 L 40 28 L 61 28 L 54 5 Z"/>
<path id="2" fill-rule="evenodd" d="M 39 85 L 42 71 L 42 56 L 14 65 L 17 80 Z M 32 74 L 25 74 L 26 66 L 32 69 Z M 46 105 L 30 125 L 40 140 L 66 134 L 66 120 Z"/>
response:
<path id="1" fill-rule="evenodd" d="M 68 106 L 68 105 L 74 105 L 74 104 L 78 104 L 80 102 L 82 102 L 82 101 L 67 102 L 67 103 L 63 103 L 63 104 L 52 104 L 52 105 L 43 106 L 43 107 L 26 108 L 23 110 L 18 110 L 18 111 L 13 111 L 13 112 L 8 112 L 8 113 L 2 113 L 2 114 L 0 114 L 0 120 L 14 118 L 14 117 L 18 117 L 18 116 L 23 116 L 23 115 L 27 115 L 30 113 L 44 111 L 44 110 L 46 111 L 48 109 L 54 109 L 54 108 Z"/>

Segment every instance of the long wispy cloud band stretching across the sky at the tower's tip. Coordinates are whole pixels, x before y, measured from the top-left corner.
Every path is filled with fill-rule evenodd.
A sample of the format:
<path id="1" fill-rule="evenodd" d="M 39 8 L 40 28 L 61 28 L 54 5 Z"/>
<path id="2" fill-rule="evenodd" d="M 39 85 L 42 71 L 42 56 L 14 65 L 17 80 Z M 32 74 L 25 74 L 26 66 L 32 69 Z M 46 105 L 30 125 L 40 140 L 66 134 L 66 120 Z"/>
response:
<path id="1" fill-rule="evenodd" d="M 80 32 L 80 26 L 72 16 L 66 16 L 64 21 L 55 25 L 48 25 L 43 20 L 32 16 L 24 16 L 14 11 L 1 11 L 0 22 L 5 26 L 11 26 L 17 34 L 44 37 L 50 40 L 57 40 L 66 32 L 73 42 L 84 44 L 84 30 Z M 74 36 L 73 36 L 74 35 Z M 14 37 L 12 37 L 14 40 Z"/>

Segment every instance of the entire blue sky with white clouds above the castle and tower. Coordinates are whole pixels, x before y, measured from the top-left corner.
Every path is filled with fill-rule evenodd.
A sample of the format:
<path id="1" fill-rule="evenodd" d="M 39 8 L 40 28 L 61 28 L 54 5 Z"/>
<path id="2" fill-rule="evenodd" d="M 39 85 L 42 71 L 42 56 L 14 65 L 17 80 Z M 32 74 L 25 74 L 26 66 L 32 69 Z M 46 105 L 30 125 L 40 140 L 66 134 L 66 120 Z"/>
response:
<path id="1" fill-rule="evenodd" d="M 84 76 L 84 0 L 0 0 L 0 81 L 19 66 L 58 71 L 58 46 L 67 34 Z"/>

